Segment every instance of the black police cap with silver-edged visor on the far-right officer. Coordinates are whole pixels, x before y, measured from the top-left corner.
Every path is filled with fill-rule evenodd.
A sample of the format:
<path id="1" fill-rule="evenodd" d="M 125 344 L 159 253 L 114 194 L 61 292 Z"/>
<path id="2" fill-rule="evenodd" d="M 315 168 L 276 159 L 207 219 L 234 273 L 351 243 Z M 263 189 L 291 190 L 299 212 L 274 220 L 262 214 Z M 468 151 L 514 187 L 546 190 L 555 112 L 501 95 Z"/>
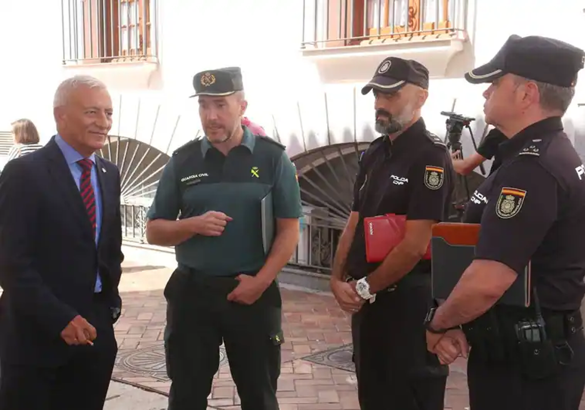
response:
<path id="1" fill-rule="evenodd" d="M 491 83 L 505 74 L 559 87 L 574 87 L 585 52 L 549 37 L 511 35 L 490 62 L 465 74 L 472 84 Z"/>

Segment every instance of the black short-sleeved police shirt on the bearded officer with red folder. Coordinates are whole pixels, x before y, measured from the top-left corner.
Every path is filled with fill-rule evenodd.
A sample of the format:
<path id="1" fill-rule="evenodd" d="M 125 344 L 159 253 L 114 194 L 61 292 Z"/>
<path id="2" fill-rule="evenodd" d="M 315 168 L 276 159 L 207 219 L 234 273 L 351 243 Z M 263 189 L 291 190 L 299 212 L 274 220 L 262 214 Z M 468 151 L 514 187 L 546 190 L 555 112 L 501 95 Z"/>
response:
<path id="1" fill-rule="evenodd" d="M 352 211 L 359 213 L 359 222 L 347 255 L 347 273 L 358 279 L 378 266 L 366 261 L 365 217 L 393 213 L 407 220 L 443 221 L 454 179 L 445 144 L 426 130 L 422 118 L 394 141 L 387 136 L 374 140 L 360 159 L 353 189 Z"/>

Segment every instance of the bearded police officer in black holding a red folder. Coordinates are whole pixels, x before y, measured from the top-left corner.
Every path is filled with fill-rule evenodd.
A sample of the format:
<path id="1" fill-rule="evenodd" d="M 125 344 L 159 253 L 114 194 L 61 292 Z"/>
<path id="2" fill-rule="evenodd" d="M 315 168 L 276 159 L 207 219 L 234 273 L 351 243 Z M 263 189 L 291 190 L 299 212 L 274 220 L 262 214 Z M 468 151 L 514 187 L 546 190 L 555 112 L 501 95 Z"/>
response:
<path id="1" fill-rule="evenodd" d="M 362 89 L 373 90 L 382 136 L 360 159 L 331 279 L 339 305 L 353 313 L 362 410 L 443 409 L 448 368 L 426 351 L 431 268 L 421 258 L 432 224 L 448 216 L 455 175 L 446 146 L 421 118 L 428 81 L 422 64 L 389 57 Z M 381 264 L 369 264 L 363 220 L 386 213 L 407 217 L 405 237 Z"/>

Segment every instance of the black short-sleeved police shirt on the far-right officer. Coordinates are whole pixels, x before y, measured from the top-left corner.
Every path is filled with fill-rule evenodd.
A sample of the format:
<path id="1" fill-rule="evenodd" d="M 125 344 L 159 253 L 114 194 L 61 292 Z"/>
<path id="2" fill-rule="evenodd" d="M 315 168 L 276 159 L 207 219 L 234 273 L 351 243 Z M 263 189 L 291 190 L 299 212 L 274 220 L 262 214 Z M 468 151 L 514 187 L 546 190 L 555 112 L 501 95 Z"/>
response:
<path id="1" fill-rule="evenodd" d="M 520 273 L 531 261 L 543 308 L 576 310 L 585 292 L 585 169 L 559 117 L 500 146 L 503 163 L 481 184 L 464 221 L 481 223 L 476 259 Z"/>

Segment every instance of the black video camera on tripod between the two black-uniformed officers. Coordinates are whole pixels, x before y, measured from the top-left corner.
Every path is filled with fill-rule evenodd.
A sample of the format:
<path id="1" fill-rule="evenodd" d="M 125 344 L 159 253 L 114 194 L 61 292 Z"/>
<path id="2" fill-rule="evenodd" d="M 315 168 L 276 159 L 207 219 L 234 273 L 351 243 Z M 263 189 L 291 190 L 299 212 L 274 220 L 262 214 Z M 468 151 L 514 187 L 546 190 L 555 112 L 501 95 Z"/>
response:
<path id="1" fill-rule="evenodd" d="M 445 125 L 447 127 L 447 133 L 445 135 L 445 144 L 447 148 L 451 150 L 451 152 L 458 152 L 455 159 L 463 159 L 463 150 L 461 144 L 461 136 L 463 133 L 463 128 L 467 128 L 469 131 L 469 135 L 471 136 L 473 148 L 477 150 L 477 145 L 475 138 L 473 137 L 473 131 L 470 127 L 472 121 L 475 121 L 475 118 L 472 117 L 464 117 L 463 115 L 456 114 L 455 112 L 450 111 L 441 111 L 441 115 L 445 115 L 447 120 L 445 121 Z M 485 175 L 486 170 L 483 168 L 483 164 L 480 165 L 481 172 Z M 455 208 L 456 214 L 450 217 L 450 220 L 461 220 L 463 217 L 463 213 L 465 211 L 465 205 L 467 201 L 470 199 L 470 192 L 469 192 L 469 185 L 467 184 L 467 178 L 463 175 L 458 175 L 457 179 L 459 181 L 459 186 L 462 186 L 464 189 L 463 195 L 458 194 L 458 190 L 456 190 L 456 199 L 455 203 L 453 203 L 453 207 Z M 460 199 L 460 200 L 458 200 Z"/>

